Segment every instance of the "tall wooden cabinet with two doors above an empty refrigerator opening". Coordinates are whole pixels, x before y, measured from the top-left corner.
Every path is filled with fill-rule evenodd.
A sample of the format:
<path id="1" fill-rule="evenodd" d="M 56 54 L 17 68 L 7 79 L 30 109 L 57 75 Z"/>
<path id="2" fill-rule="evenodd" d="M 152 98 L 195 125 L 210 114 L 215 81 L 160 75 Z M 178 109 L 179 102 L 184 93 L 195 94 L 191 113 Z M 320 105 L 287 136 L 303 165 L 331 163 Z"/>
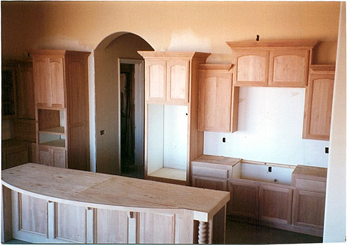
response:
<path id="1" fill-rule="evenodd" d="M 210 53 L 157 51 L 138 51 L 138 53 L 144 57 L 146 74 L 144 176 L 150 180 L 189 185 L 191 181 L 189 162 L 203 154 L 203 132 L 198 131 L 198 65 L 205 63 Z M 151 132 L 149 121 L 153 118 L 149 117 L 150 105 L 187 106 L 187 112 L 185 112 L 188 128 L 187 157 L 180 154 L 182 158 L 187 158 L 186 167 L 182 167 L 183 160 L 178 162 L 176 167 L 172 163 L 166 166 L 165 160 L 153 162 L 153 159 L 149 158 L 149 155 L 153 158 L 158 157 L 160 155 L 158 152 L 164 149 L 162 143 L 155 144 L 156 149 L 149 147 L 153 142 L 153 132 L 149 133 Z M 158 130 L 155 133 L 158 133 Z"/>

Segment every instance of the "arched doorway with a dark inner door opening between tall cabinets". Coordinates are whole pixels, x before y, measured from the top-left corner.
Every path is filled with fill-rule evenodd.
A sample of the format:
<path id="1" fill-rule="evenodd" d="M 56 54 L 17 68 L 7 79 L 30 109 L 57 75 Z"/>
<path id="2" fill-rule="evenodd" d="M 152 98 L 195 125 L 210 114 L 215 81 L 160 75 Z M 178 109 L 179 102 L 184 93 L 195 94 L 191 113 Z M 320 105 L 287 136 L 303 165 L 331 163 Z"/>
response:
<path id="1" fill-rule="evenodd" d="M 105 37 L 94 50 L 97 172 L 143 176 L 139 153 L 143 155 L 144 76 L 139 50 L 153 48 L 142 37 L 124 32 Z M 142 130 L 135 130 L 139 127 Z"/>

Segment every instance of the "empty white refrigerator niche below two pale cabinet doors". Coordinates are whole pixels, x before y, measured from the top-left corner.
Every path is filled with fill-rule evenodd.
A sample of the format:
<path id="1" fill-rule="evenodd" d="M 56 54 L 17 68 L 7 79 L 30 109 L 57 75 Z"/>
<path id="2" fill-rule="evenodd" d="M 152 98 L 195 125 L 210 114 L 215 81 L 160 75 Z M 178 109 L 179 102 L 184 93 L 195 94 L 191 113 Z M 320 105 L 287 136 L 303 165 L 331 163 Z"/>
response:
<path id="1" fill-rule="evenodd" d="M 147 175 L 186 180 L 187 105 L 148 105 Z"/>

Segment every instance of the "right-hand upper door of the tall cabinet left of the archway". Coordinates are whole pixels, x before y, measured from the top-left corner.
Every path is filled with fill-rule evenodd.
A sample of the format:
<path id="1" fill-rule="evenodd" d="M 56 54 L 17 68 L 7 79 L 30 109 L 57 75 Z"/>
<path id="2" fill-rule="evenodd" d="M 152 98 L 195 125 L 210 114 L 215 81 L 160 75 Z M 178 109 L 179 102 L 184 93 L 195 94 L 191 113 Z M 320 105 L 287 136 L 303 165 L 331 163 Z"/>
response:
<path id="1" fill-rule="evenodd" d="M 51 80 L 51 106 L 65 108 L 63 58 L 49 58 L 49 76 Z"/>

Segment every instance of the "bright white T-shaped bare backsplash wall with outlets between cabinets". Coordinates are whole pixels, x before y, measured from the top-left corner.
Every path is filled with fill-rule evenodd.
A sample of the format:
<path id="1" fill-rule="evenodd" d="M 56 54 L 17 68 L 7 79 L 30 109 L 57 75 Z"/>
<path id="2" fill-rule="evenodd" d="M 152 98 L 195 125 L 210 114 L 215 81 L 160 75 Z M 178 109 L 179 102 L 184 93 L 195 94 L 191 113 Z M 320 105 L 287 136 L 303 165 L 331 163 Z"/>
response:
<path id="1" fill-rule="evenodd" d="M 304 100 L 304 88 L 240 87 L 238 130 L 205 132 L 204 154 L 328 167 L 329 141 L 302 137 Z"/>

